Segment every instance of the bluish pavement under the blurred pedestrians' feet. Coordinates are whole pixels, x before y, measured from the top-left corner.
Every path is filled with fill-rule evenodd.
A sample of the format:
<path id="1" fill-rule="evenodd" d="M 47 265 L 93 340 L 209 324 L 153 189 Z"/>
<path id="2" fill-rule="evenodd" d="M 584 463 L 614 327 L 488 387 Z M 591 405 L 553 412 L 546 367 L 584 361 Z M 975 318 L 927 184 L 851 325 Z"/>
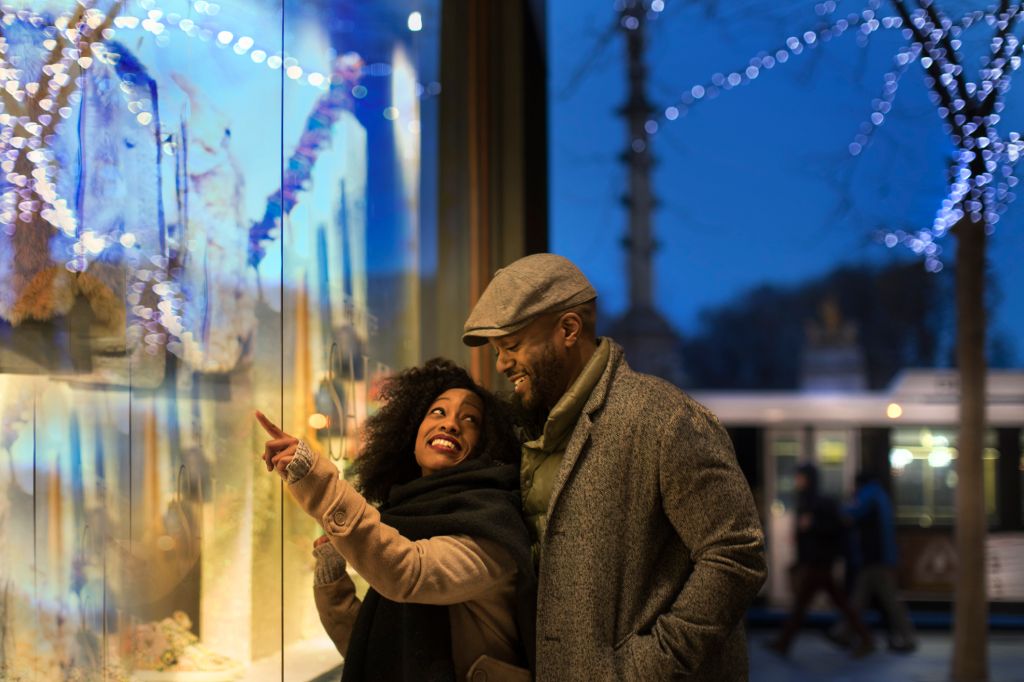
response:
<path id="1" fill-rule="evenodd" d="M 952 634 L 919 632 L 918 649 L 892 653 L 876 632 L 878 649 L 854 659 L 829 642 L 821 631 L 804 629 L 785 658 L 765 643 L 777 635 L 773 629 L 748 631 L 751 682 L 948 682 Z M 1024 682 L 1024 633 L 989 634 L 989 682 Z"/>

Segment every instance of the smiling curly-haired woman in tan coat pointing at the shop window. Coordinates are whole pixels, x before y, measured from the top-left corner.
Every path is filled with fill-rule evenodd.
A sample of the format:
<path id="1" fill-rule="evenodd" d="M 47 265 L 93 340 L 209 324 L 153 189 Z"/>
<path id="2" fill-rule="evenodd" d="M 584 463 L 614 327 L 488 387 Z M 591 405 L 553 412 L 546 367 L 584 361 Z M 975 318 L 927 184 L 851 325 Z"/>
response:
<path id="1" fill-rule="evenodd" d="M 528 680 L 537 584 L 503 407 L 442 359 L 391 378 L 382 398 L 358 491 L 256 413 L 267 470 L 326 534 L 314 597 L 342 680 Z M 345 560 L 372 588 L 361 604 Z"/>

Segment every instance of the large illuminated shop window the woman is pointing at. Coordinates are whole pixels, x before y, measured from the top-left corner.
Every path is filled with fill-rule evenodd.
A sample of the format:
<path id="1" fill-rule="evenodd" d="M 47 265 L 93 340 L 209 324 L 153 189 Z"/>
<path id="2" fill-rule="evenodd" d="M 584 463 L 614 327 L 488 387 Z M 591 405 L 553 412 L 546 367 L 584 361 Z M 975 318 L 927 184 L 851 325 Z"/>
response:
<path id="1" fill-rule="evenodd" d="M 340 662 L 252 413 L 344 469 L 422 359 L 439 1 L 3 5 L 0 678 Z"/>

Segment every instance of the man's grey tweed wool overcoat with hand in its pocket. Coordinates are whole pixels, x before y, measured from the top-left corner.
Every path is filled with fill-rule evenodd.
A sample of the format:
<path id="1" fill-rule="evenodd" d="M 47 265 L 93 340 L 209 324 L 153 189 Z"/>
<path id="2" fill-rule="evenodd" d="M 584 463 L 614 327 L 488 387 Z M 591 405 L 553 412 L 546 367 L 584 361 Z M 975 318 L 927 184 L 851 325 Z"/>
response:
<path id="1" fill-rule="evenodd" d="M 549 505 L 537 679 L 745 680 L 764 534 L 732 444 L 706 408 L 601 343 L 608 365 Z"/>

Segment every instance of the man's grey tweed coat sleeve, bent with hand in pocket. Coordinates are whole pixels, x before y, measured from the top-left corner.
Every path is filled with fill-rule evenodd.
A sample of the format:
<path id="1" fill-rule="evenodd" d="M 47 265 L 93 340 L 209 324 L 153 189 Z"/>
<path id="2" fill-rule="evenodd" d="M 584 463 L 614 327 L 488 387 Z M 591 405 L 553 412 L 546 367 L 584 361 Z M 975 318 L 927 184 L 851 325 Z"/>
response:
<path id="1" fill-rule="evenodd" d="M 690 550 L 693 571 L 651 632 L 621 652 L 639 679 L 693 674 L 739 625 L 764 584 L 764 532 L 732 443 L 705 411 L 666 429 L 658 455 L 664 511 Z"/>

